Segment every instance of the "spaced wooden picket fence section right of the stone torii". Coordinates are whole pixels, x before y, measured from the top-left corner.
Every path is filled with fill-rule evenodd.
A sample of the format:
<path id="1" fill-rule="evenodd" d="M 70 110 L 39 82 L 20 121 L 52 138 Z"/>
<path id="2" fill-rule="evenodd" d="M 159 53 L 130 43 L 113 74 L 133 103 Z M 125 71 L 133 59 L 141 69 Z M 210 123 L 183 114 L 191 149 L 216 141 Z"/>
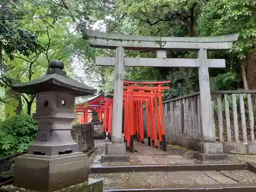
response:
<path id="1" fill-rule="evenodd" d="M 214 126 L 218 141 L 245 144 L 255 141 L 255 94 L 256 90 L 211 91 Z"/>

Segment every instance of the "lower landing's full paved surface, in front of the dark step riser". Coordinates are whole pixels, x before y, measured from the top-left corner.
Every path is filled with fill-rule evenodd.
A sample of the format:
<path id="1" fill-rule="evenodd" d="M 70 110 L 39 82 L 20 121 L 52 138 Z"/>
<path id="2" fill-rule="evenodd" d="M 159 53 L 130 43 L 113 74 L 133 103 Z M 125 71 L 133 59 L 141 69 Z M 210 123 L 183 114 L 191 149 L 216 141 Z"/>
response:
<path id="1" fill-rule="evenodd" d="M 229 172 L 136 172 L 91 174 L 103 179 L 103 189 L 178 188 L 209 184 L 255 183 L 256 174 L 247 170 Z"/>

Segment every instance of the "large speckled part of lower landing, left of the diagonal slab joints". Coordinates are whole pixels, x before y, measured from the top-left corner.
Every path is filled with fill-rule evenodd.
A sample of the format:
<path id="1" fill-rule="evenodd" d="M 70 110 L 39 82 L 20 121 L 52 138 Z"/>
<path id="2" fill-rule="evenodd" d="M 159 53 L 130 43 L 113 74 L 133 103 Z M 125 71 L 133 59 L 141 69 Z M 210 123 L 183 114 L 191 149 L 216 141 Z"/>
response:
<path id="1" fill-rule="evenodd" d="M 90 174 L 90 178 L 103 179 L 104 189 L 172 188 L 179 185 L 218 184 L 203 172 Z"/>

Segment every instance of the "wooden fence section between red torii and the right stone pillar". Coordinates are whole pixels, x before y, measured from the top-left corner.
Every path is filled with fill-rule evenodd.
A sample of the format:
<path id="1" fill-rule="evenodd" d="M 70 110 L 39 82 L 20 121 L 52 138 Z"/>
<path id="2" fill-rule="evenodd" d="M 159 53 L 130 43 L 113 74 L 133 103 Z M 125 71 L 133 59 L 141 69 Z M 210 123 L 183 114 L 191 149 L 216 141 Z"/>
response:
<path id="1" fill-rule="evenodd" d="M 201 140 L 199 92 L 163 102 L 166 136 Z"/>

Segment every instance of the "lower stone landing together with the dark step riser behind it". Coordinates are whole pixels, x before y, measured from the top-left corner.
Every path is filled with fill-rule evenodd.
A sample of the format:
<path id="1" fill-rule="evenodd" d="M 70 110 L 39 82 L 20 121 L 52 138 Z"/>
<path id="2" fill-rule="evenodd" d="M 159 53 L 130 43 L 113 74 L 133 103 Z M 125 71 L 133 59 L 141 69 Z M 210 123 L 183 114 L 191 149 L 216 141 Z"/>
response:
<path id="1" fill-rule="evenodd" d="M 106 191 L 256 191 L 247 163 L 122 165 L 91 167 Z M 254 167 L 254 166 L 253 166 Z"/>

